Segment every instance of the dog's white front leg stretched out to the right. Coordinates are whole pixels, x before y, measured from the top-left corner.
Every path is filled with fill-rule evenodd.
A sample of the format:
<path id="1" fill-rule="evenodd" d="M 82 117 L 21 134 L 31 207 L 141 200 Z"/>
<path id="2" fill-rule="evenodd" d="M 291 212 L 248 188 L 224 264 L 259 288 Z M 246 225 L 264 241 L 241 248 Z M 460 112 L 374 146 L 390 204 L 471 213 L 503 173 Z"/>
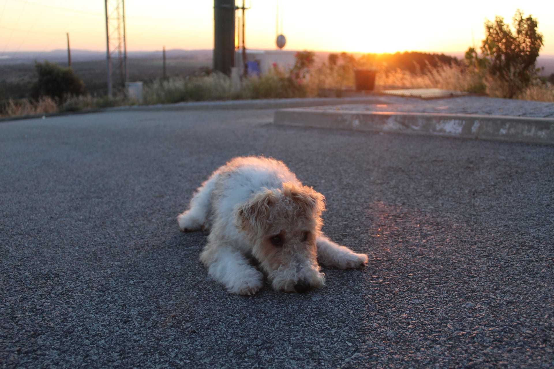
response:
<path id="1" fill-rule="evenodd" d="M 360 268 L 367 264 L 366 254 L 357 254 L 345 246 L 337 245 L 325 236 L 316 239 L 317 259 L 329 267 L 339 269 Z"/>

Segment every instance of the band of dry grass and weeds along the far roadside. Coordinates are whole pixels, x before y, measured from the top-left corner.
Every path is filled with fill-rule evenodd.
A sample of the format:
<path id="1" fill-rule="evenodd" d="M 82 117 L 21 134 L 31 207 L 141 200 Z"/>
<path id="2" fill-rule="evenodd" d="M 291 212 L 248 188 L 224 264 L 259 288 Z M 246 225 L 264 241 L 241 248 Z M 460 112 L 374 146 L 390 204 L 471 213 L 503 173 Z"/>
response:
<path id="1" fill-rule="evenodd" d="M 352 67 L 345 65 L 329 66 L 325 63 L 315 66 L 304 81 L 294 81 L 286 71 L 274 70 L 260 77 L 249 77 L 242 81 L 240 89 L 233 91 L 229 77 L 211 74 L 195 77 L 174 77 L 156 80 L 145 85 L 145 104 L 175 103 L 181 101 L 231 100 L 241 98 L 281 98 L 318 96 L 320 89 L 343 89 L 353 87 Z M 443 65 L 427 72 L 412 74 L 404 70 L 378 71 L 376 90 L 390 88 L 439 88 L 455 91 L 488 93 L 502 97 L 510 86 L 485 76 L 483 72 L 463 65 Z M 530 101 L 554 102 L 554 86 L 536 80 L 515 98 Z M 90 95 L 69 97 L 61 105 L 49 97 L 33 102 L 27 99 L 8 100 L 1 107 L 0 116 L 14 117 L 39 115 L 59 111 L 81 111 L 120 105 L 135 105 L 124 96 L 114 98 L 93 97 Z"/>

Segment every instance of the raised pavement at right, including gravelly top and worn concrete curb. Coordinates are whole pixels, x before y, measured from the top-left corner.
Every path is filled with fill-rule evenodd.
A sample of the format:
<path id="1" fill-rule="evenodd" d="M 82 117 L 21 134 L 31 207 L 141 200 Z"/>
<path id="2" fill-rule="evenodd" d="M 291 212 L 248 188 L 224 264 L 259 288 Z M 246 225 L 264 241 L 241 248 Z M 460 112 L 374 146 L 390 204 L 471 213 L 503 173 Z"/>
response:
<path id="1" fill-rule="evenodd" d="M 368 105 L 290 108 L 276 111 L 274 123 L 554 144 L 554 104 L 489 97 L 381 97 Z"/>

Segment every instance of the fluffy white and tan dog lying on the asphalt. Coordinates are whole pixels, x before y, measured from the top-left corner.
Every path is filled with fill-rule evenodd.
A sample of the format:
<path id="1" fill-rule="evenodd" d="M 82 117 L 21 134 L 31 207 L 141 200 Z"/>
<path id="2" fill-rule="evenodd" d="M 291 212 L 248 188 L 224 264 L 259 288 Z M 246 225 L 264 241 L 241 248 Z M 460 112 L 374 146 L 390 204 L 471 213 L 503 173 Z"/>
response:
<path id="1" fill-rule="evenodd" d="M 368 260 L 325 237 L 324 210 L 325 197 L 302 185 L 283 162 L 239 157 L 214 171 L 177 221 L 183 231 L 210 230 L 200 259 L 230 293 L 250 295 L 262 287 L 263 274 L 249 257 L 275 290 L 305 292 L 325 285 L 318 259 L 341 269 Z"/>

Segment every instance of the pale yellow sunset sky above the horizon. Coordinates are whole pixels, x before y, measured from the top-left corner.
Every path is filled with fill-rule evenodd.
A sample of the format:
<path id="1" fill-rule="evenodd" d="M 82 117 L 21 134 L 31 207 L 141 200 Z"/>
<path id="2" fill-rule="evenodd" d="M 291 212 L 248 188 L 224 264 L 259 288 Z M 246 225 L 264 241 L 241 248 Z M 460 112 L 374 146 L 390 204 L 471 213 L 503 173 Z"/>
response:
<path id="1" fill-rule="evenodd" d="M 277 3 L 247 0 L 247 48 L 275 48 Z M 127 0 L 125 7 L 129 51 L 213 48 L 213 0 Z M 541 55 L 554 55 L 554 1 L 279 0 L 285 49 L 366 53 L 463 53 L 480 46 L 485 18 L 511 23 L 517 8 L 538 19 Z M 0 56 L 63 49 L 66 32 L 74 49 L 105 50 L 104 1 L 0 0 Z"/>

